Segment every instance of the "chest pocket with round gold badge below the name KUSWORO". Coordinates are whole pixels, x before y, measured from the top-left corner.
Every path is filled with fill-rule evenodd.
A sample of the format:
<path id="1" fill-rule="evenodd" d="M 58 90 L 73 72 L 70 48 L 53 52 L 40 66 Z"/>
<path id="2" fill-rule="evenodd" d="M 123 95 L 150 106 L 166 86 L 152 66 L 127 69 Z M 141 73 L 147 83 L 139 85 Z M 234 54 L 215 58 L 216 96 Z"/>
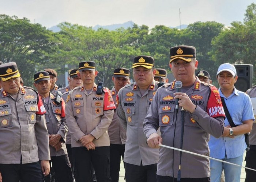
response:
<path id="1" fill-rule="evenodd" d="M 173 125 L 175 105 L 159 107 L 159 126 Z"/>

